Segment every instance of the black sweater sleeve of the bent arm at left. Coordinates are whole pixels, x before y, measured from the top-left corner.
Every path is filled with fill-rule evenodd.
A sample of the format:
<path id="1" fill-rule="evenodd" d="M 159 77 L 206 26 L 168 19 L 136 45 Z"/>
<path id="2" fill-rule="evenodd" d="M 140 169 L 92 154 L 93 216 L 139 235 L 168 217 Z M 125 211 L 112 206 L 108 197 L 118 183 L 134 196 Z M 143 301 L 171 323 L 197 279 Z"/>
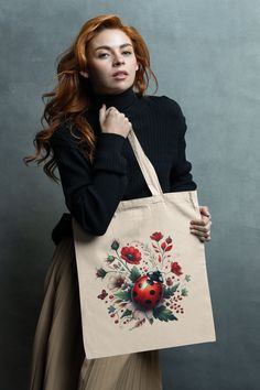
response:
<path id="1" fill-rule="evenodd" d="M 62 132 L 63 134 L 63 132 Z M 127 186 L 127 160 L 122 155 L 126 138 L 100 133 L 94 165 L 75 142 L 66 137 L 52 137 L 65 203 L 72 216 L 87 232 L 101 236 Z"/>

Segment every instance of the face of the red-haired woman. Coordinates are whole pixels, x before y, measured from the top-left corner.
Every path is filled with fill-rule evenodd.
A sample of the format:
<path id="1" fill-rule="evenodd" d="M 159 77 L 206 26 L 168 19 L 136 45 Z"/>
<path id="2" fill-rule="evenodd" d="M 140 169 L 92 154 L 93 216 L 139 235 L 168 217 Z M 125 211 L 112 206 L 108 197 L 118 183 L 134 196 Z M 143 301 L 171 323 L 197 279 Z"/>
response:
<path id="1" fill-rule="evenodd" d="M 88 77 L 96 94 L 117 95 L 134 83 L 138 63 L 130 37 L 118 29 L 98 33 L 87 47 L 88 66 L 80 72 Z M 126 72 L 115 76 L 116 72 Z"/>

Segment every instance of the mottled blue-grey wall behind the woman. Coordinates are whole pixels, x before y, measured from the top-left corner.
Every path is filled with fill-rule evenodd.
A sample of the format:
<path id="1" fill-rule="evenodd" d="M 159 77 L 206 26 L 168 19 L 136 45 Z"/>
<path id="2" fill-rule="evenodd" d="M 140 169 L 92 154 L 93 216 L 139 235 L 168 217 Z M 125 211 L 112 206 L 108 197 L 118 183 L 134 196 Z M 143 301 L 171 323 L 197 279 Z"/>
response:
<path id="1" fill-rule="evenodd" d="M 144 36 L 160 89 L 187 120 L 217 343 L 162 351 L 164 390 L 259 389 L 258 0 L 1 1 L 1 390 L 28 389 L 31 347 L 52 261 L 61 186 L 26 167 L 41 129 L 41 95 L 82 24 L 117 13 Z M 153 87 L 153 86 L 152 86 Z M 150 89 L 151 91 L 153 88 Z"/>

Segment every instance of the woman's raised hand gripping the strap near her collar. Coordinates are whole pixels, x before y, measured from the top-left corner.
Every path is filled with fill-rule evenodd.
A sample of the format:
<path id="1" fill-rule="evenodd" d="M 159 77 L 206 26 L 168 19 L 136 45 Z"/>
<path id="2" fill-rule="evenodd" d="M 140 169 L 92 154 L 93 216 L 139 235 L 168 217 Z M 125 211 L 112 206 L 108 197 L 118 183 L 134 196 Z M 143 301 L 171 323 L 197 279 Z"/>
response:
<path id="1" fill-rule="evenodd" d="M 132 128 L 132 123 L 128 120 L 124 113 L 118 111 L 116 107 L 106 109 L 106 105 L 99 110 L 99 122 L 102 132 L 116 133 L 124 138 L 128 137 Z"/>

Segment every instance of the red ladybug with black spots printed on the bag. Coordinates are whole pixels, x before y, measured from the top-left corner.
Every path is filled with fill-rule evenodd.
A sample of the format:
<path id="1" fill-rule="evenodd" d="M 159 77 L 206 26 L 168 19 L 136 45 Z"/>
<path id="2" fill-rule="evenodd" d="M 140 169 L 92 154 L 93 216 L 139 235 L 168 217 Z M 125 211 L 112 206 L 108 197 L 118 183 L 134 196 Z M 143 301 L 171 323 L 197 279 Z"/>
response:
<path id="1" fill-rule="evenodd" d="M 163 278 L 160 271 L 140 277 L 132 288 L 132 301 L 145 310 L 159 304 L 163 295 Z"/>

